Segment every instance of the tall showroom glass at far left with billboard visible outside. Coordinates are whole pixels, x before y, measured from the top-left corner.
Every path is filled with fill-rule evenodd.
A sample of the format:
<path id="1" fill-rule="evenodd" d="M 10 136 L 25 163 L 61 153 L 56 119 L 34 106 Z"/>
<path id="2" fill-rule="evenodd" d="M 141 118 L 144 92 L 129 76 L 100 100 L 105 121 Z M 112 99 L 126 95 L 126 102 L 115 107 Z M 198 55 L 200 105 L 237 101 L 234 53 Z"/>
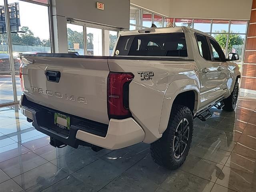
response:
<path id="1" fill-rule="evenodd" d="M 20 55 L 51 52 L 48 0 L 7 3 L 0 0 L 0 106 L 20 100 Z M 9 19 L 6 19 L 7 6 Z"/>

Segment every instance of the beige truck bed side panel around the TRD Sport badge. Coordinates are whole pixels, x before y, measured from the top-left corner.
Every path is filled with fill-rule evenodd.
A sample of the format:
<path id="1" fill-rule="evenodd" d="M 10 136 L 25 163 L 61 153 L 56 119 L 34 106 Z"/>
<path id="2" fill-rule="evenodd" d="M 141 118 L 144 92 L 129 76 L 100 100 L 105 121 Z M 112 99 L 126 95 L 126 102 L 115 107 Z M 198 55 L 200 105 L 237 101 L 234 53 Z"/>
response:
<path id="1" fill-rule="evenodd" d="M 188 84 L 198 87 L 198 74 L 193 61 L 109 59 L 108 65 L 112 72 L 134 74 L 129 88 L 129 107 L 134 119 L 144 129 L 146 143 L 152 143 L 162 136 L 170 116 L 171 99 L 180 91 L 180 87 Z M 151 71 L 154 76 L 150 80 L 142 80 L 138 73 Z M 174 84 L 171 82 L 174 81 L 179 83 L 172 86 Z M 164 123 L 161 123 L 160 132 L 162 119 Z"/>

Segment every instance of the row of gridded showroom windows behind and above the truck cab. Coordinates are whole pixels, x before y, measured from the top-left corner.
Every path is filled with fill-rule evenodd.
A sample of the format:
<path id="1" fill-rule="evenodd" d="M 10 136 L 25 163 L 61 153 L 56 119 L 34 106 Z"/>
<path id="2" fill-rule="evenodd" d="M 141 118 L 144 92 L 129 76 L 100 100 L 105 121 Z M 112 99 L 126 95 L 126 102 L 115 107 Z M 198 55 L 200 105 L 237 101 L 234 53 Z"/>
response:
<path id="1" fill-rule="evenodd" d="M 157 27 L 188 26 L 213 36 L 220 44 L 227 56 L 229 52 L 239 55 L 238 65 L 242 65 L 244 58 L 244 43 L 247 33 L 248 21 L 246 20 L 223 20 L 223 19 L 199 19 L 199 18 L 170 18 L 140 8 L 131 7 L 131 12 L 136 9 L 136 20 L 130 22 L 130 30 L 150 28 L 152 21 Z M 141 16 L 139 14 L 142 14 Z M 163 18 L 163 25 L 161 25 Z"/>

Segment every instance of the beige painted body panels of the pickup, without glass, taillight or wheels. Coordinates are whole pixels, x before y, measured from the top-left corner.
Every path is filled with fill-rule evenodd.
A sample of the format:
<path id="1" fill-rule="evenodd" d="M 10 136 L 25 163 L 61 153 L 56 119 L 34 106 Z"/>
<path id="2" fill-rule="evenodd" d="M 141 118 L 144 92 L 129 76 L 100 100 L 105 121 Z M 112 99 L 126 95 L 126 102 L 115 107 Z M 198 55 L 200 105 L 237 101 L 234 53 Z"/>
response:
<path id="1" fill-rule="evenodd" d="M 180 93 L 187 91 L 195 93 L 192 111 L 194 115 L 213 102 L 230 95 L 236 78 L 241 75 L 238 66 L 230 61 L 206 61 L 200 55 L 194 34 L 202 34 L 209 38 L 212 36 L 186 27 L 151 29 L 154 32 L 149 34 L 184 32 L 187 56 L 162 58 L 116 56 L 114 55 L 116 47 L 113 56 L 106 58 L 24 55 L 22 76 L 24 88 L 29 91 L 24 93 L 26 98 L 54 110 L 109 124 L 111 136 L 108 132 L 106 138 L 111 139 L 99 138 L 80 130 L 76 138 L 104 148 L 116 149 L 142 141 L 152 143 L 161 138 L 167 128 L 172 103 Z M 120 32 L 119 38 L 142 34 L 145 35 L 143 30 Z M 204 67 L 209 69 L 207 74 L 202 72 Z M 47 70 L 60 71 L 62 75 L 60 82 L 47 81 L 45 76 Z M 141 71 L 152 71 L 154 77 L 142 81 L 138 73 Z M 134 74 L 129 85 L 129 109 L 132 113 L 132 121 L 130 118 L 129 120 L 108 119 L 109 72 Z M 31 114 L 28 118 L 31 118 Z M 129 126 L 132 126 L 130 127 L 132 132 L 124 130 L 129 129 Z M 121 129 L 124 134 L 120 134 Z M 127 139 L 124 139 L 126 136 Z"/>

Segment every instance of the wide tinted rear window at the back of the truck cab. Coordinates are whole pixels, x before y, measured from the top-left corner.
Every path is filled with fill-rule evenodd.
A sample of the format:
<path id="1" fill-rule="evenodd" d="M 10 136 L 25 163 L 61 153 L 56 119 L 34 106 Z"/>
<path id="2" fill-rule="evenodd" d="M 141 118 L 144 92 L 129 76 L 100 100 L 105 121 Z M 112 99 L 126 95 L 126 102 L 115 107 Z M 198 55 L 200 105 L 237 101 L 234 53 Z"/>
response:
<path id="1" fill-rule="evenodd" d="M 116 50 L 120 56 L 188 56 L 184 33 L 120 36 Z"/>

